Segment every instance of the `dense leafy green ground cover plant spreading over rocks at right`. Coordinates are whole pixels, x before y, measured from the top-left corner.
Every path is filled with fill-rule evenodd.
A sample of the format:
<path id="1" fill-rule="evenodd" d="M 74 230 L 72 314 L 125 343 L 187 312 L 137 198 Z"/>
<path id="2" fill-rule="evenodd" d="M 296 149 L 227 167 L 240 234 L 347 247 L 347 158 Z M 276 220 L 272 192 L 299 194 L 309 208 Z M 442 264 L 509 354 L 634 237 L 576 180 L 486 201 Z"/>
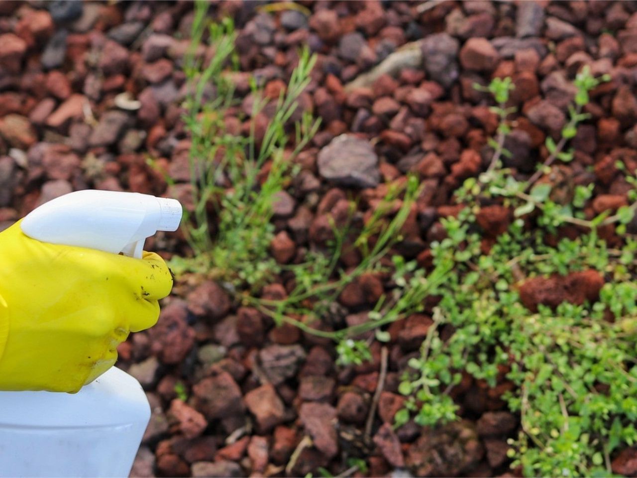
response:
<path id="1" fill-rule="evenodd" d="M 504 106 L 510 84 L 494 80 L 488 89 L 503 121 L 512 112 Z M 587 69 L 578 73 L 571 119 L 557 144 L 547 139 L 550 156 L 528 181 L 516 180 L 499 164 L 508 132 L 501 127 L 492 141 L 489 169 L 457 192 L 465 207 L 457 217 L 443 220 L 447 238 L 432 245 L 433 271 L 450 273 L 436 288 L 440 302 L 433 324 L 399 387 L 408 400 L 396 414 L 396 426 L 412 416 L 420 425 L 435 426 L 456 418 L 450 392 L 462 373 L 490 387 L 513 384 L 503 398 L 519 413 L 522 430 L 510 440 L 508 456 L 512 467 L 521 467 L 527 476 L 610 474 L 613 451 L 637 439 L 637 242 L 625 236 L 637 198 L 633 191 L 632 205 L 587 219 L 593 185 L 559 202 L 554 186 L 539 181 L 555 159 L 572 159 L 563 148 L 586 119 L 582 107 L 598 84 Z M 637 171 L 624 172 L 634 184 Z M 485 210 L 497 212 L 499 222 L 508 224 L 486 242 L 478 233 L 490 225 Z M 579 235 L 569 238 L 566 228 L 573 227 Z M 622 238 L 620 247 L 609 247 L 600 237 L 599 231 L 607 234 L 608 228 Z M 533 298 L 527 287 L 559 289 L 561 281 L 576 277 L 588 279 L 571 289 L 595 290 L 573 298 L 567 286 L 548 291 L 554 296 L 547 300 Z M 441 330 L 449 328 L 454 332 L 443 338 Z"/>

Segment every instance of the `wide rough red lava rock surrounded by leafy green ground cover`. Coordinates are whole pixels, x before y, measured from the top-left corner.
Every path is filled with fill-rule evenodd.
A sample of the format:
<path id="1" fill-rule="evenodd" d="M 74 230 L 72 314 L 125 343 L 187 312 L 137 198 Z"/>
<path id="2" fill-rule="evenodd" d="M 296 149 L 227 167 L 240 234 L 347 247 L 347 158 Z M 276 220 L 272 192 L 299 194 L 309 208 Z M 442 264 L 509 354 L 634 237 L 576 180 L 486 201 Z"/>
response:
<path id="1" fill-rule="evenodd" d="M 538 311 L 538 304 L 552 308 L 564 301 L 582 305 L 585 300 L 597 300 L 603 285 L 604 278 L 594 270 L 554 275 L 548 279 L 534 277 L 520 286 L 520 300 L 531 312 Z"/>

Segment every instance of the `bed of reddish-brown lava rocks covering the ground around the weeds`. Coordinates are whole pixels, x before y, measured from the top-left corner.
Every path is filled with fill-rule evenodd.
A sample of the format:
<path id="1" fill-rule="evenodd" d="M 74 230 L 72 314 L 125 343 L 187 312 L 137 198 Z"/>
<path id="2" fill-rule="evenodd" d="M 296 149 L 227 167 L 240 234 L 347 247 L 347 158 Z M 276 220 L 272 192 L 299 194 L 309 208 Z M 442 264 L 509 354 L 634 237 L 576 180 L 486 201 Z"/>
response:
<path id="1" fill-rule="evenodd" d="M 513 156 L 504 162 L 524 177 L 547 157 L 546 135 L 566 121 L 576 70 L 588 64 L 594 75 L 609 73 L 612 82 L 593 92 L 585 108 L 591 119 L 572 141 L 575 161 L 550 180 L 564 194 L 595 182 L 595 212 L 626 204 L 630 185 L 615 163 L 637 165 L 636 2 L 299 4 L 309 17 L 268 13 L 262 2 L 219 1 L 210 11 L 234 18 L 241 70 L 262 78 L 272 98 L 299 47 L 318 54 L 301 104 L 322 117 L 322 127 L 275 206 L 272 254 L 280 263 L 324 241 L 328 215 L 342 216 L 349 196 L 361 198 L 364 212 L 382 198 L 385 181 L 413 171 L 426 189 L 401 252 L 426 264 L 429 243 L 440 238 L 438 219 L 456 210 L 452 192 L 488 164 L 485 143 L 497 119 L 473 84 L 494 76 L 512 76 L 516 85 L 511 105 L 521 113 L 506 143 Z M 189 207 L 180 102 L 192 18 L 192 3 L 182 1 L 0 2 L 2 228 L 49 199 L 89 187 L 168 194 Z M 399 68 L 361 84 L 362 74 L 405 45 Z M 238 91 L 247 94 L 245 77 L 238 78 Z M 234 117 L 227 121 L 242 127 Z M 147 155 L 175 185 L 148 166 Z M 496 235 L 510 217 L 490 206 L 478 221 Z M 637 230 L 634 221 L 629 227 Z M 166 258 L 184 248 L 179 234 L 147 243 Z M 357 260 L 343 257 L 343 266 Z M 556 280 L 528 284 L 525 305 L 559 302 L 561 287 L 582 301 L 599 285 L 599 277 Z M 360 313 L 383 287 L 369 276 L 343 292 L 348 324 L 364 319 Z M 263 291 L 285 293 L 283 284 Z M 132 475 L 298 476 L 316 475 L 318 467 L 338 474 L 349 468 L 348 457 L 365 458 L 373 476 L 511 473 L 506 438 L 519 424 L 499 398 L 508 389 L 504 380 L 488 389 L 465 377 L 452 392 L 462 421 L 437 430 L 389 426 L 404 401 L 398 377 L 431 319 L 403 322 L 390 329 L 389 372 L 366 440 L 380 348 L 373 348 L 372 363 L 342 370 L 333 344 L 236 308 L 214 282 L 183 280 L 164 301 L 157 326 L 119 349 L 119 366 L 140 380 L 153 410 Z M 619 453 L 613 470 L 637 474 L 637 452 Z"/>

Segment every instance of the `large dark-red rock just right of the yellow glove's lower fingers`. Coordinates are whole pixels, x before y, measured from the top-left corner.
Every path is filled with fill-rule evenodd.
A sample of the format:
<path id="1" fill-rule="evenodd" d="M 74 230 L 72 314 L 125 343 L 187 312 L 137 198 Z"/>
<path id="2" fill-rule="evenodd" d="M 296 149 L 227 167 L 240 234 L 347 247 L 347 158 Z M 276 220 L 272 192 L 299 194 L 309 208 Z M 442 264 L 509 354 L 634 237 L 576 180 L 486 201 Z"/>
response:
<path id="1" fill-rule="evenodd" d="M 159 321 L 148 331 L 152 349 L 163 363 L 180 363 L 194 345 L 195 333 L 188 325 L 186 315 L 186 303 L 172 301 L 162 308 Z"/>

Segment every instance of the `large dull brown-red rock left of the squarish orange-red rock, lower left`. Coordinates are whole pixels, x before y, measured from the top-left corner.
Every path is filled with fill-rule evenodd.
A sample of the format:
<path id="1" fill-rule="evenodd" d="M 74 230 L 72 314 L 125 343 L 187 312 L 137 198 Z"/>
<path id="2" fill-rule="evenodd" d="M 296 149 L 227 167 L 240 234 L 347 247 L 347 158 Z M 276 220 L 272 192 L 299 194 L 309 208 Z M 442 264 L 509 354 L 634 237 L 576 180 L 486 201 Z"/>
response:
<path id="1" fill-rule="evenodd" d="M 192 387 L 192 393 L 195 408 L 209 420 L 245 410 L 241 389 L 227 372 L 204 378 Z"/>

